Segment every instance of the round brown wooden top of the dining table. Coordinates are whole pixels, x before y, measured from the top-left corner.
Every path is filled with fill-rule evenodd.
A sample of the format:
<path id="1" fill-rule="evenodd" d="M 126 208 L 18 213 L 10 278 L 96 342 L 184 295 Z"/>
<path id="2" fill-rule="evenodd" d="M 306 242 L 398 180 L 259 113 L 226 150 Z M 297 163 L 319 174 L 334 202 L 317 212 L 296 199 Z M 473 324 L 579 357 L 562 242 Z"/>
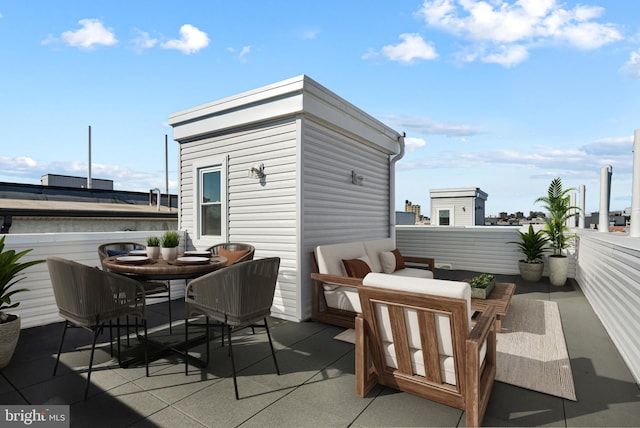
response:
<path id="1" fill-rule="evenodd" d="M 177 260 L 149 259 L 143 263 L 122 263 L 111 256 L 104 259 L 104 266 L 112 272 L 136 277 L 136 279 L 192 279 L 223 268 L 226 257 L 213 256 L 207 263 L 181 263 Z"/>

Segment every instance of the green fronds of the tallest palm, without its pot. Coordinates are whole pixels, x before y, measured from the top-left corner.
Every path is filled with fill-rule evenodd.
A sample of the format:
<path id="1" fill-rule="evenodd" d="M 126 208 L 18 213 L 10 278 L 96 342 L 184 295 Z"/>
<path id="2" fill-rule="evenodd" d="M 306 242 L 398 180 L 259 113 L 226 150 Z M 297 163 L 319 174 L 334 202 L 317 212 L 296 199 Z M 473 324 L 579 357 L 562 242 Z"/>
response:
<path id="1" fill-rule="evenodd" d="M 571 206 L 569 192 L 574 188 L 562 188 L 562 180 L 556 177 L 551 180 L 547 196 L 541 196 L 535 200 L 535 203 L 542 202 L 543 207 L 549 212 L 545 217 L 545 233 L 549 238 L 549 244 L 553 248 L 555 256 L 562 255 L 562 250 L 569 246 L 569 241 L 573 236 L 567 236 L 569 227 L 566 225 L 567 220 L 578 215 L 580 208 Z"/>

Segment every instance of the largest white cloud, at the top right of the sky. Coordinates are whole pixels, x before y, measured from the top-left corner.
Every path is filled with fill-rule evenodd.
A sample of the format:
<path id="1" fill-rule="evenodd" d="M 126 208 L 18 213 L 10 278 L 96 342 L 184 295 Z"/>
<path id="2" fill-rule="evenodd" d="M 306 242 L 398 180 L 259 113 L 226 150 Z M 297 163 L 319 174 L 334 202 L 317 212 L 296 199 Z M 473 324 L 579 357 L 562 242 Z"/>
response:
<path id="1" fill-rule="evenodd" d="M 599 6 L 566 8 L 556 0 L 425 0 L 417 15 L 480 50 L 465 54 L 467 61 L 510 67 L 528 57 L 529 46 L 545 42 L 597 49 L 621 40 L 614 24 L 594 22 L 603 12 Z"/>

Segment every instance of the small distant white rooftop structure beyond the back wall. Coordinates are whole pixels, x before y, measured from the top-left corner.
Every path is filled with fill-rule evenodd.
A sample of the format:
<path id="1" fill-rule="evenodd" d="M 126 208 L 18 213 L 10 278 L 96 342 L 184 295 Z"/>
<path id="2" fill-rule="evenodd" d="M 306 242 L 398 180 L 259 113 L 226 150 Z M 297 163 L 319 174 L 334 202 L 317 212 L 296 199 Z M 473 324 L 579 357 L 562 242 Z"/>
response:
<path id="1" fill-rule="evenodd" d="M 435 226 L 484 226 L 488 195 L 478 187 L 431 189 L 431 224 Z"/>

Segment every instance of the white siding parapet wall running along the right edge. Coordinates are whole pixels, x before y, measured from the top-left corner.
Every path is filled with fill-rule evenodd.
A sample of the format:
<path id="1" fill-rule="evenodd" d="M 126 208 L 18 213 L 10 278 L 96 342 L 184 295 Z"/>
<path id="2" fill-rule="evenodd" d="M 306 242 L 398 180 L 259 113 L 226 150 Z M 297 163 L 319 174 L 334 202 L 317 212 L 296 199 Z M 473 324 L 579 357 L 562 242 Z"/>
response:
<path id="1" fill-rule="evenodd" d="M 578 284 L 640 384 L 640 238 L 579 235 Z"/>

